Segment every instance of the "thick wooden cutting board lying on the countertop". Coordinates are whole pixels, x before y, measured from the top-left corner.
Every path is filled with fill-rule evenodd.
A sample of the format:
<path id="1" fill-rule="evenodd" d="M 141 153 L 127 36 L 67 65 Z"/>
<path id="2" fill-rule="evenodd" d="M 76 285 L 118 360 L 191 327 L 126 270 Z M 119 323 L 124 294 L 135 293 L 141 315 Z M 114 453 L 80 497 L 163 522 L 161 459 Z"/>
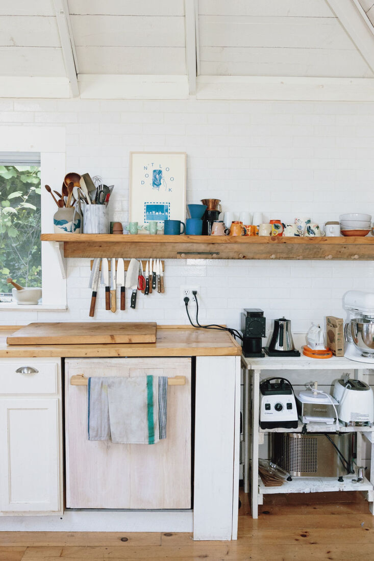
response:
<path id="1" fill-rule="evenodd" d="M 8 345 L 156 343 L 156 323 L 30 323 L 7 338 Z"/>

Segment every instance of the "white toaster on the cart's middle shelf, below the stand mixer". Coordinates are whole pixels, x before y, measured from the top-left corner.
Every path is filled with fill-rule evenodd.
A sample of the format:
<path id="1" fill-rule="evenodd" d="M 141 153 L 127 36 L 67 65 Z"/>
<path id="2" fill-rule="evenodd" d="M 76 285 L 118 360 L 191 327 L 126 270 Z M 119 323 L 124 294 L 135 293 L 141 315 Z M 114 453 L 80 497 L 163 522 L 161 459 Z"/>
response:
<path id="1" fill-rule="evenodd" d="M 374 422 L 374 396 L 370 385 L 349 378 L 336 380 L 334 397 L 339 403 L 339 421 L 346 426 L 372 426 Z"/>

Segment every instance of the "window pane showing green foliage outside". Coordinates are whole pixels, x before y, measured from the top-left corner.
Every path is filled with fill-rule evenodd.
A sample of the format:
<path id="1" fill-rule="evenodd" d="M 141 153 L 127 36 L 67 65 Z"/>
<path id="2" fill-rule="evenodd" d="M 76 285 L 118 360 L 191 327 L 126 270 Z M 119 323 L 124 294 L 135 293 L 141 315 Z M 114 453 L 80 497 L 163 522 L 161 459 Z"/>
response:
<path id="1" fill-rule="evenodd" d="M 42 286 L 40 163 L 0 154 L 0 292 Z"/>

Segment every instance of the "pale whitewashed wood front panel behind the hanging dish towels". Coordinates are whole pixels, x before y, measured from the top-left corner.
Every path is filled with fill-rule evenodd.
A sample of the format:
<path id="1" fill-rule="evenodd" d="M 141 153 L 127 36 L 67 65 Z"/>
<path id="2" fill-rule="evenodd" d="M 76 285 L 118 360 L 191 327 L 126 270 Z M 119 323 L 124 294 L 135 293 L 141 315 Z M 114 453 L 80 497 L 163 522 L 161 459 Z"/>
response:
<path id="1" fill-rule="evenodd" d="M 90 442 L 87 388 L 71 386 L 72 375 L 177 376 L 169 386 L 167 438 L 157 444 Z M 191 359 L 67 359 L 66 504 L 70 508 L 190 508 Z"/>

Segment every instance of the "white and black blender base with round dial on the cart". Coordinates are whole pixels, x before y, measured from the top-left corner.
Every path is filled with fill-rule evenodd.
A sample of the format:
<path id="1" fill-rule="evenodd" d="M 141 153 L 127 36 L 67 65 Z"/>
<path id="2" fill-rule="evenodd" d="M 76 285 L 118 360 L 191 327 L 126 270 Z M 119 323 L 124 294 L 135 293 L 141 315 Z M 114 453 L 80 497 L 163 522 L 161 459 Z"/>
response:
<path id="1" fill-rule="evenodd" d="M 262 429 L 297 429 L 294 390 L 288 380 L 268 378 L 260 384 L 259 424 Z"/>

